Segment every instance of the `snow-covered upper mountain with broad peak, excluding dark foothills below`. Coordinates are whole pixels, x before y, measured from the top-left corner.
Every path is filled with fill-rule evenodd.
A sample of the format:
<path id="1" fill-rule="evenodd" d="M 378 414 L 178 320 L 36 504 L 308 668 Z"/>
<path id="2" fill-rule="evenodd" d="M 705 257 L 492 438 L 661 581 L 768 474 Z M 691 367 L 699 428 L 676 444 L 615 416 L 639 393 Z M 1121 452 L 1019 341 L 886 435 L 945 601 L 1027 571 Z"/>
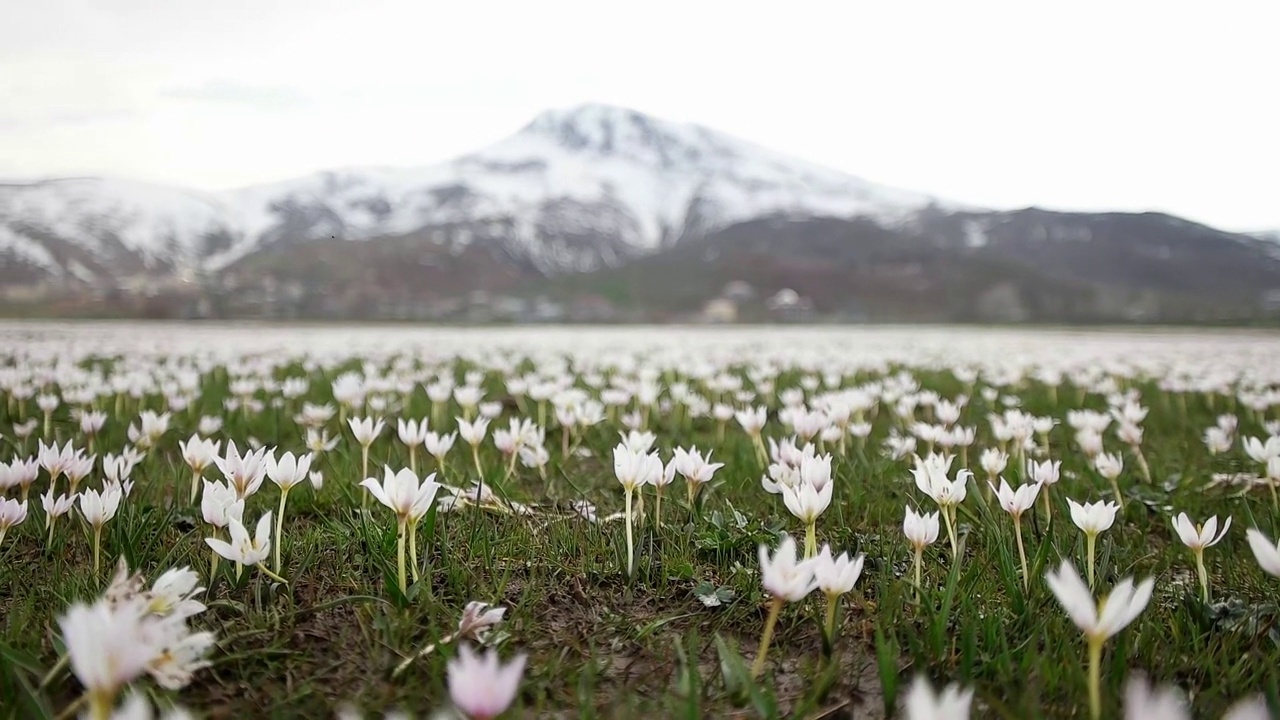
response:
<path id="1" fill-rule="evenodd" d="M 426 168 L 356 168 L 207 193 L 119 179 L 0 184 L 0 268 L 87 282 L 218 269 L 317 238 L 484 242 L 544 273 L 589 270 L 765 217 L 910 222 L 959 209 L 622 108 L 553 110 Z"/>

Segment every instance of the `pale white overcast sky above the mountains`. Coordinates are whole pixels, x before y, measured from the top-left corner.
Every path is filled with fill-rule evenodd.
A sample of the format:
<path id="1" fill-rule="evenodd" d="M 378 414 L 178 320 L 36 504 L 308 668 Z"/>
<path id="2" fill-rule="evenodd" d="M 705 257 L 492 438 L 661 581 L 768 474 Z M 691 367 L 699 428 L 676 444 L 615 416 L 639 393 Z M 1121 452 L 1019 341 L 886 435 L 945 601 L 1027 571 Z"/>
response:
<path id="1" fill-rule="evenodd" d="M 1275 0 L 12 3 L 0 177 L 429 164 L 595 101 L 963 202 L 1280 228 L 1277 27 Z"/>

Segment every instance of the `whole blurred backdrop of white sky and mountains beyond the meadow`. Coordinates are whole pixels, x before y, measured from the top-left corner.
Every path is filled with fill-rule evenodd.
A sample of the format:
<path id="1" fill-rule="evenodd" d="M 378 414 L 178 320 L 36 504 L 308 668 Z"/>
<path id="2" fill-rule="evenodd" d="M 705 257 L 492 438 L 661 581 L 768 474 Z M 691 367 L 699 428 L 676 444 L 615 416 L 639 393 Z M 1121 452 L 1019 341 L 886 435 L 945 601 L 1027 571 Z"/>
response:
<path id="1" fill-rule="evenodd" d="M 1274 3 L 0 24 L 0 314 L 1280 322 Z"/>

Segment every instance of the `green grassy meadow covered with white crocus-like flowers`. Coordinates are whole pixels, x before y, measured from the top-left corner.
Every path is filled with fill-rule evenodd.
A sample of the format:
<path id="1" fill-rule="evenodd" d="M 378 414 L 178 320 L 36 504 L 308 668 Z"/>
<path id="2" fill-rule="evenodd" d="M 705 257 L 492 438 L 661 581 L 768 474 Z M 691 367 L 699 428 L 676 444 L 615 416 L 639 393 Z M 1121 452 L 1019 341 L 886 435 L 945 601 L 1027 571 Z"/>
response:
<path id="1" fill-rule="evenodd" d="M 1280 710 L 1280 336 L 0 340 L 0 717 Z"/>

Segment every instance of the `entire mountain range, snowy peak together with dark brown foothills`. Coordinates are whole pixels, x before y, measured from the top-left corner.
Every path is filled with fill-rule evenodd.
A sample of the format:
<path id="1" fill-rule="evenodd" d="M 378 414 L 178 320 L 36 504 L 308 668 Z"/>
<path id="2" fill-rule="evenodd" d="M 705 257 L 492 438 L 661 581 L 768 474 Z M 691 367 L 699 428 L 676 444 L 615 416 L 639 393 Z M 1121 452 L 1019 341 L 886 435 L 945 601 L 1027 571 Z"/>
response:
<path id="1" fill-rule="evenodd" d="M 803 297 L 788 318 L 1254 320 L 1280 314 L 1280 243 L 1162 213 L 975 208 L 590 104 L 417 168 L 214 193 L 0 183 L 0 293 L 73 314 L 545 319 L 517 307 L 550 297 L 594 319 L 767 319 L 719 296 L 736 282 Z"/>

